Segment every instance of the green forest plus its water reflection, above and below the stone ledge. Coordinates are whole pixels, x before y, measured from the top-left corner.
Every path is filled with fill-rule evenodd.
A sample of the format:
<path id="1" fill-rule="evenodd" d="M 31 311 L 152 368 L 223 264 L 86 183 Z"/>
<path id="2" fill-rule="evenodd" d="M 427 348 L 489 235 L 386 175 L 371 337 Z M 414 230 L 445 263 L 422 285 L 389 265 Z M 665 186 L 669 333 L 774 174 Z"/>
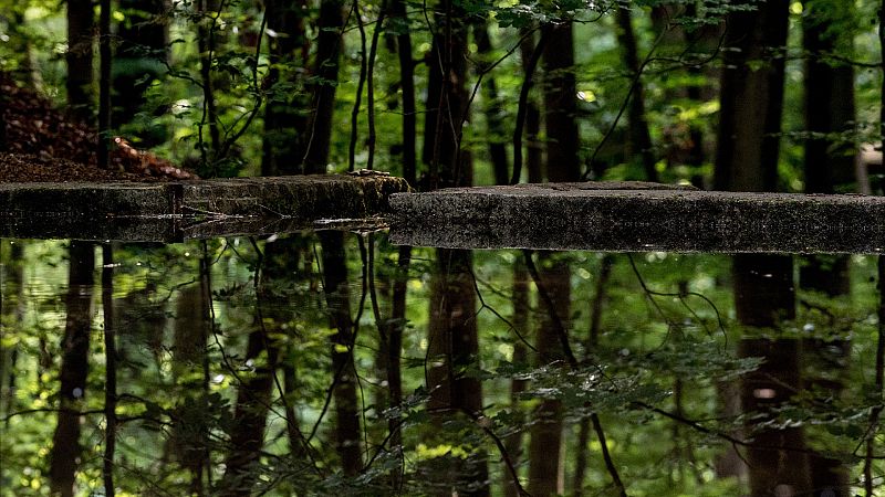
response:
<path id="1" fill-rule="evenodd" d="M 882 194 L 884 17 L 0 0 L 0 182 Z M 0 240 L 0 495 L 885 495 L 883 281 L 875 254 L 383 231 Z"/>

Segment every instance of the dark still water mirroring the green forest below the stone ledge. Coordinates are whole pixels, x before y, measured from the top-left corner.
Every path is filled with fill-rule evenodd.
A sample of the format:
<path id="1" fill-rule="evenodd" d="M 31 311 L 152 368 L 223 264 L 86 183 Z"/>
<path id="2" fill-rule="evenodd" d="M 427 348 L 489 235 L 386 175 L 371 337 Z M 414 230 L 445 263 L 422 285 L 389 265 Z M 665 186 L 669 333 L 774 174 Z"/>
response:
<path id="1" fill-rule="evenodd" d="M 1 243 L 2 495 L 885 488 L 872 256 Z"/>

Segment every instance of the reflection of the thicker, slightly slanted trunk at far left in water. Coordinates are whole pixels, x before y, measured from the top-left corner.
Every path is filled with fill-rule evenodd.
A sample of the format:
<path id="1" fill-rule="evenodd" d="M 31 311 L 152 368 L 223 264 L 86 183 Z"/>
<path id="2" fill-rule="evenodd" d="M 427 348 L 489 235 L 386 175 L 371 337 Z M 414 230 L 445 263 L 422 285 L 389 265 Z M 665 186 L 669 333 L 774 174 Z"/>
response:
<path id="1" fill-rule="evenodd" d="M 95 283 L 95 248 L 88 242 L 71 242 L 67 251 L 67 317 L 61 343 L 62 364 L 59 422 L 52 437 L 50 483 L 52 491 L 63 497 L 74 495 L 80 445 L 80 411 L 86 394 L 92 294 Z"/>

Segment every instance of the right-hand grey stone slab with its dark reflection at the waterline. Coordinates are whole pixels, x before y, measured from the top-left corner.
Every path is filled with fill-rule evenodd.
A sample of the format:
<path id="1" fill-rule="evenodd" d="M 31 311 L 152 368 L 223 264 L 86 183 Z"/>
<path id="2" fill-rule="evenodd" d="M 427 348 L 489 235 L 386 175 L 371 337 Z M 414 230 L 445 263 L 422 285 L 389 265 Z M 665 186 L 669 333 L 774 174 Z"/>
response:
<path id="1" fill-rule="evenodd" d="M 409 245 L 726 253 L 885 250 L 885 198 L 879 197 L 573 183 L 399 193 L 391 197 L 391 239 Z"/>

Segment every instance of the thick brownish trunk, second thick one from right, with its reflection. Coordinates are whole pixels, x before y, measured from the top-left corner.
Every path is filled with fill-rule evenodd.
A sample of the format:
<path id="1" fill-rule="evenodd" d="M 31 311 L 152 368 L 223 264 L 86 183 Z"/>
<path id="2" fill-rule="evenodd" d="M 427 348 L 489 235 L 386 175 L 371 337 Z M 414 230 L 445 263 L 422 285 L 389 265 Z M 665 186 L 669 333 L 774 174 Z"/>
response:
<path id="1" fill-rule="evenodd" d="M 731 191 L 775 191 L 781 110 L 783 107 L 783 51 L 787 44 L 788 2 L 777 0 L 758 11 L 735 12 L 728 19 L 721 110 L 715 182 Z M 761 68 L 750 62 L 762 61 Z M 777 329 L 795 316 L 793 264 L 789 256 L 735 256 L 735 305 L 738 321 L 754 328 Z M 801 493 L 811 488 L 804 434 L 801 427 L 760 427 L 754 414 L 789 402 L 801 383 L 800 342 L 795 339 L 745 337 L 741 357 L 761 357 L 759 370 L 741 385 L 747 414 L 747 450 L 752 495 Z"/>

